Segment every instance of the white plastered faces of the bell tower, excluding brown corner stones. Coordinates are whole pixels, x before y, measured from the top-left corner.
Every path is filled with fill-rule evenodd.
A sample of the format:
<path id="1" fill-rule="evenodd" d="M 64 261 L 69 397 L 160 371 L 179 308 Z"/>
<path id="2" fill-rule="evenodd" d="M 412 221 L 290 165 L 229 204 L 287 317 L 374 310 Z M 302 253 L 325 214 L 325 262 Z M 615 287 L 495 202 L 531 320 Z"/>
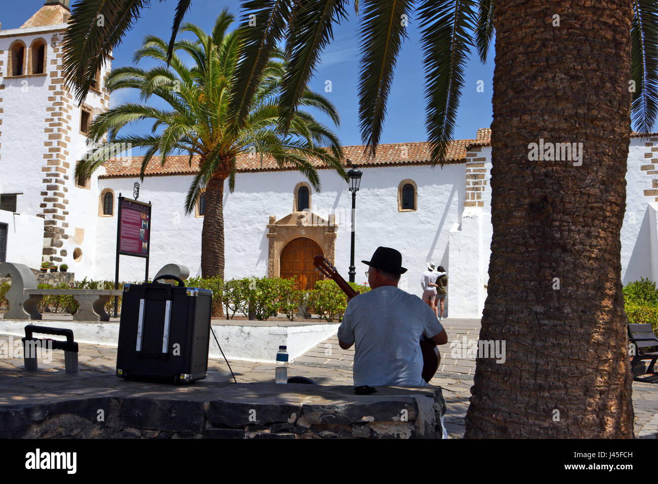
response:
<path id="1" fill-rule="evenodd" d="M 61 32 L 53 32 L 61 28 Z M 14 40 L 22 40 L 27 49 L 30 49 L 32 41 L 42 38 L 46 41 L 46 70 L 45 75 L 37 76 L 20 76 L 18 78 L 3 78 L 5 90 L 2 91 L 1 97 L 3 112 L 0 114 L 2 120 L 2 132 L 0 136 L 0 194 L 22 193 L 16 198 L 16 211 L 28 215 L 37 215 L 43 213 L 43 209 L 53 208 L 53 202 L 46 202 L 44 207 L 42 192 L 45 192 L 43 180 L 49 178 L 46 176 L 47 171 L 42 168 L 47 166 L 47 160 L 43 155 L 48 149 L 43 146 L 48 141 L 49 133 L 44 132 L 48 128 L 45 122 L 46 118 L 51 117 L 51 112 L 46 111 L 53 105 L 53 99 L 63 101 L 63 96 L 58 90 L 51 90 L 49 87 L 54 80 L 60 77 L 61 65 L 53 65 L 51 61 L 56 59 L 55 49 L 61 53 L 64 29 L 66 24 L 57 26 L 44 26 L 37 28 L 18 28 L 12 30 L 0 30 L 0 50 L 5 53 L 1 56 L 3 61 L 3 72 L 8 68 L 8 56 L 10 55 L 9 46 Z M 57 35 L 57 47 L 53 49 L 53 34 Z M 26 63 L 29 61 L 26 52 Z M 105 65 L 101 70 L 101 76 L 105 76 L 111 66 Z M 27 72 L 27 69 L 25 70 Z M 57 81 L 59 82 L 59 81 Z M 57 84 L 59 86 L 59 84 Z M 99 110 L 102 108 L 101 95 L 89 91 L 84 103 L 92 109 Z M 82 158 L 86 153 L 86 136 L 80 133 L 80 116 L 81 108 L 78 103 L 71 102 L 72 110 L 64 113 L 70 117 L 68 124 L 70 132 L 64 134 L 68 137 L 68 153 L 66 162 L 69 167 L 62 176 L 64 187 L 68 191 L 64 192 L 64 200 L 68 200 L 65 209 L 60 209 L 59 215 L 66 217 L 65 234 L 69 238 L 63 239 L 63 246 L 58 248 L 57 256 L 60 256 L 60 249 L 66 250 L 66 256 L 62 256 L 61 263 L 67 263 L 70 271 L 76 272 L 76 277 L 84 277 L 93 272 L 93 254 L 95 252 L 95 230 L 97 215 L 97 174 L 92 176 L 91 188 L 78 188 L 75 186 L 74 169 L 76 161 Z M 65 126 L 63 126 L 64 128 Z M 53 128 L 57 133 L 58 128 Z M 53 146 L 57 140 L 53 140 Z M 54 167 L 49 171 L 55 171 Z M 54 184 L 54 180 L 53 180 Z M 64 191 L 64 190 L 63 190 Z M 63 203 L 63 200 L 59 200 Z M 63 213 L 63 211 L 65 213 Z M 68 213 L 66 213 L 68 212 Z M 47 214 L 45 219 L 51 219 Z M 63 224 L 58 222 L 58 227 Z M 50 239 L 43 238 L 43 221 L 41 222 L 41 235 L 39 236 L 39 245 L 43 248 L 50 246 Z M 75 240 L 73 238 L 75 229 L 84 229 L 84 238 Z M 87 257 L 77 263 L 73 259 L 75 248 L 81 248 L 83 254 Z M 39 250 L 41 254 L 41 250 Z M 89 257 L 91 255 L 92 257 Z M 32 256 L 30 256 L 32 257 Z M 41 257 L 32 260 L 30 267 L 39 267 Z"/>

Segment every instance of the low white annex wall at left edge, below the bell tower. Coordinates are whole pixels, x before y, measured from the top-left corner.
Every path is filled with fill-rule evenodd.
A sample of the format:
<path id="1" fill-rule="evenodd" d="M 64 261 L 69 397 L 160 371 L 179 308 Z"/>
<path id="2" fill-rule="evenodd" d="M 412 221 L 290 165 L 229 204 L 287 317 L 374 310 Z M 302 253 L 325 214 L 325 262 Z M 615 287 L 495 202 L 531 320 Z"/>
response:
<path id="1" fill-rule="evenodd" d="M 0 210 L 0 223 L 7 224 L 7 262 L 38 268 L 43 248 L 43 219 Z"/>

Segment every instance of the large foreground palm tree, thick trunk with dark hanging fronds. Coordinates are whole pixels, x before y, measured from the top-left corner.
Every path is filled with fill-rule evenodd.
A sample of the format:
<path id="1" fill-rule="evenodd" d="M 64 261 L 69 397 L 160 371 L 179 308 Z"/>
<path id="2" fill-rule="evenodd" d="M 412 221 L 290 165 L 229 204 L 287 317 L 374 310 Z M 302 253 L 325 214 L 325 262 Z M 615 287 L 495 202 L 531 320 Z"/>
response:
<path id="1" fill-rule="evenodd" d="M 332 26 L 347 15 L 347 1 L 245 0 L 243 9 L 243 21 L 255 14 L 256 22 L 246 32 L 230 117 L 240 119 L 247 111 L 259 73 L 285 38 L 289 63 L 279 124 L 286 129 L 300 103 L 299 88 L 333 40 Z M 508 356 L 501 365 L 478 360 L 467 437 L 632 437 L 619 233 L 628 91 L 638 130 L 649 132 L 657 114 L 655 3 L 355 0 L 357 14 L 359 9 L 359 117 L 372 155 L 405 19 L 417 14 L 422 28 L 426 126 L 435 163 L 452 137 L 471 49 L 486 61 L 497 32 L 493 241 L 480 334 L 506 340 Z M 77 77 L 68 69 L 67 78 L 84 94 L 84 82 L 106 54 L 83 49 L 84 29 L 76 32 L 66 59 L 88 69 Z M 105 39 L 103 32 L 89 33 L 89 45 Z M 114 38 L 107 38 L 110 45 Z M 580 169 L 564 162 L 530 163 L 528 144 L 538 138 L 583 142 L 589 162 Z M 554 277 L 562 281 L 559 291 L 547 285 Z"/>

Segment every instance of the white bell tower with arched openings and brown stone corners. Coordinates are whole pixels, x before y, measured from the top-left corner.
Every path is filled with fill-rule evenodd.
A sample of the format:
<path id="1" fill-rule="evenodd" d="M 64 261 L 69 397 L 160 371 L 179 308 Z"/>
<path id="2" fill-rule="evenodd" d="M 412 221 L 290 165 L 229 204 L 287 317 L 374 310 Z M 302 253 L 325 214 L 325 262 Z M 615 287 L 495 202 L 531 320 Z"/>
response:
<path id="1" fill-rule="evenodd" d="M 87 151 L 89 124 L 109 109 L 102 80 L 110 65 L 78 105 L 62 72 L 69 17 L 69 0 L 46 0 L 19 28 L 0 30 L 0 195 L 15 213 L 43 219 L 42 260 L 74 271 L 84 262 L 74 250 L 92 252 L 80 235 L 89 225 L 84 207 L 97 204 L 91 180 L 76 184 L 75 163 Z"/>

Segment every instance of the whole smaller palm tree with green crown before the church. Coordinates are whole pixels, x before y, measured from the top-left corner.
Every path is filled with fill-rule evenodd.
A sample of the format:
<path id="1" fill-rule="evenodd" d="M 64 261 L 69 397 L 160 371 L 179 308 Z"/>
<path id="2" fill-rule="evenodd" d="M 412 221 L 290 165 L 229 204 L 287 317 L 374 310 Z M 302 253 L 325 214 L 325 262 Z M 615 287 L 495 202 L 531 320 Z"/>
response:
<path id="1" fill-rule="evenodd" d="M 144 57 L 156 59 L 161 65 L 149 70 L 128 66 L 112 70 L 105 80 L 109 92 L 122 88 L 138 89 L 144 101 L 151 96 L 166 102 L 168 109 L 126 103 L 102 113 L 91 123 L 88 138 L 99 142 L 109 133 L 107 142 L 92 149 L 76 164 L 80 180 L 100 167 L 108 159 L 116 144 L 130 143 L 145 148 L 141 163 L 141 177 L 151 159 L 159 153 L 164 165 L 170 153 L 186 153 L 190 164 L 195 155 L 199 172 L 195 175 L 186 199 L 186 212 L 195 209 L 200 194 L 205 190 L 205 216 L 201 241 L 201 273 L 203 277 L 224 278 L 224 217 L 222 198 L 224 181 L 232 191 L 235 184 L 236 156 L 249 153 L 276 160 L 279 166 L 295 167 L 307 176 L 311 185 L 320 189 L 318 174 L 311 160 L 332 167 L 347 179 L 342 165 L 342 148 L 336 135 L 299 109 L 295 112 L 292 128 L 286 134 L 278 128 L 278 97 L 285 59 L 280 51 L 273 51 L 259 78 L 257 91 L 249 102 L 249 109 L 240 120 L 228 119 L 228 101 L 232 78 L 240 52 L 242 30 L 228 32 L 233 16 L 224 10 L 217 17 L 211 35 L 193 24 L 185 24 L 181 32 L 191 32 L 195 40 L 181 40 L 174 45 L 170 67 L 166 66 L 166 43 L 155 36 L 147 36 L 134 56 L 138 63 Z M 188 68 L 178 57 L 182 51 L 190 55 L 194 65 Z M 314 107 L 339 122 L 335 107 L 322 95 L 303 90 L 303 106 Z M 126 124 L 152 120 L 151 134 L 118 133 Z M 329 146 L 329 149 L 319 148 Z"/>

